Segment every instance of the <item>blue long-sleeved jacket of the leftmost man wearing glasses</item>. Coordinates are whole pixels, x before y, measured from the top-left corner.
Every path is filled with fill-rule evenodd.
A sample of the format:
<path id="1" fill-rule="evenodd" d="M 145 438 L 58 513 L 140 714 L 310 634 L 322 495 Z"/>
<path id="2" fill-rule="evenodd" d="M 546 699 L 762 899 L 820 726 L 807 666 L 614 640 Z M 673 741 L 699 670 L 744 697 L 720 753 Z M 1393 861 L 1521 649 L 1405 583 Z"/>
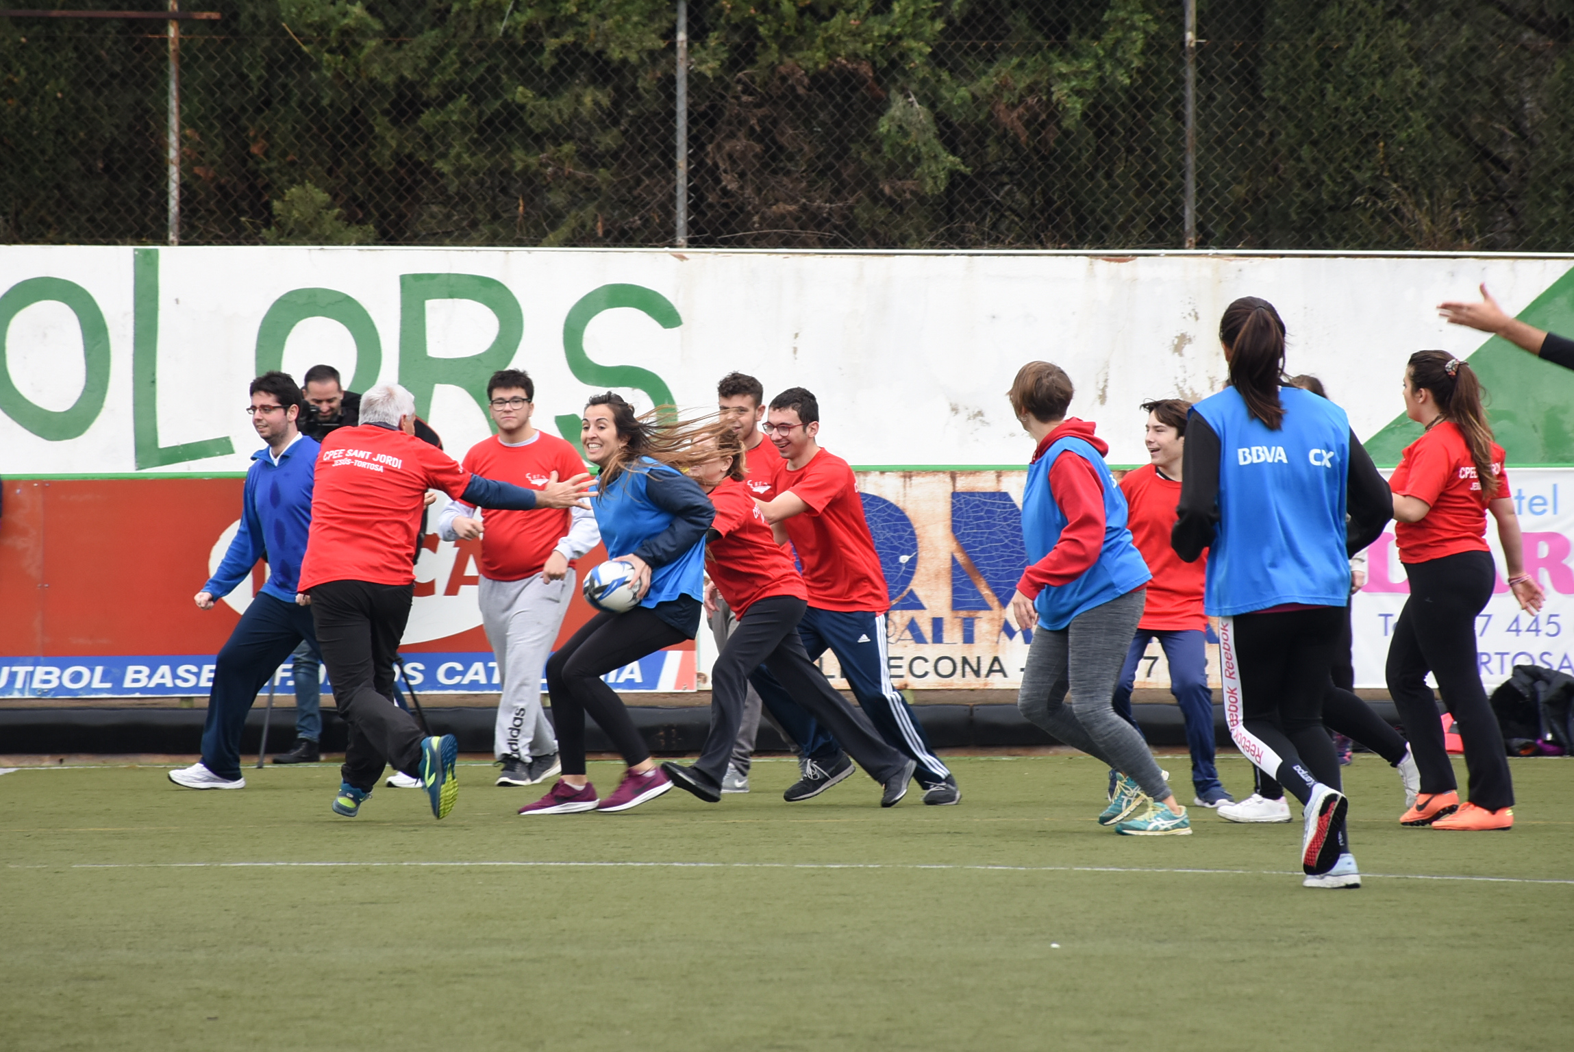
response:
<path id="1" fill-rule="evenodd" d="M 269 575 L 263 591 L 286 603 L 294 602 L 305 539 L 312 532 L 312 482 L 321 449 L 315 438 L 302 435 L 283 452 L 277 466 L 266 446 L 252 454 L 241 495 L 241 529 L 201 591 L 214 598 L 228 595 L 258 559 L 266 559 Z"/>

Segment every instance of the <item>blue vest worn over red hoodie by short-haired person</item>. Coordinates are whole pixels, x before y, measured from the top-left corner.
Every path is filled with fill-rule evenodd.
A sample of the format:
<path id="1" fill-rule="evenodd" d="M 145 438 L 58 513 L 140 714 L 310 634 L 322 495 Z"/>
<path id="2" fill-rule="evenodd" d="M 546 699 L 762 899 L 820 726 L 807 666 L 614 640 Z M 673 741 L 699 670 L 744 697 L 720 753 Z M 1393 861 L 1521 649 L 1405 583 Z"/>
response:
<path id="1" fill-rule="evenodd" d="M 1132 542 L 1132 531 L 1125 526 L 1125 495 L 1103 463 L 1103 452 L 1075 435 L 1056 439 L 1028 468 L 1028 488 L 1022 495 L 1022 537 L 1028 548 L 1028 562 L 1037 562 L 1050 554 L 1069 521 L 1050 491 L 1050 468 L 1061 457 L 1081 457 L 1099 472 L 1099 482 L 1103 485 L 1103 545 L 1099 559 L 1080 578 L 1039 592 L 1039 598 L 1034 600 L 1039 627 L 1050 632 L 1059 632 L 1078 614 L 1103 606 L 1154 576 Z"/>

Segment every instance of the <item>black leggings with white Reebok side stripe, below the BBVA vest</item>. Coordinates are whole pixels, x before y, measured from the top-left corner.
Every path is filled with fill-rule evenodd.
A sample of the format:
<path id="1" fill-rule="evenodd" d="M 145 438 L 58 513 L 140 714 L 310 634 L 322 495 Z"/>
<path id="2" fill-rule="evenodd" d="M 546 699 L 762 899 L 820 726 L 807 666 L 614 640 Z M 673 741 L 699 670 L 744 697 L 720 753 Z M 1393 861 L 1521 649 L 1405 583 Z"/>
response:
<path id="1" fill-rule="evenodd" d="M 1339 787 L 1339 758 L 1322 726 L 1344 611 L 1338 606 L 1220 620 L 1225 720 L 1253 764 L 1306 803 L 1319 781 Z"/>

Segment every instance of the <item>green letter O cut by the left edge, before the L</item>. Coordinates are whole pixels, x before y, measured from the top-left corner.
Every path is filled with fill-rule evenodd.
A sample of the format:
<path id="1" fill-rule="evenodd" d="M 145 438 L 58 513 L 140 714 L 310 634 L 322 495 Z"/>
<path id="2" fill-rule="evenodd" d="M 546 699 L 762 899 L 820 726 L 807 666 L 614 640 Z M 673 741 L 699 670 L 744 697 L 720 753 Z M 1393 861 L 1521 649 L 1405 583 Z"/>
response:
<path id="1" fill-rule="evenodd" d="M 35 405 L 11 381 L 6 362 L 6 332 L 11 320 L 36 302 L 63 302 L 77 315 L 82 329 L 82 359 L 85 378 L 82 394 L 68 409 L 46 409 Z M 79 438 L 98 419 L 109 392 L 109 326 L 104 312 L 88 290 L 60 277 L 30 277 L 17 282 L 0 296 L 0 413 L 50 443 Z"/>

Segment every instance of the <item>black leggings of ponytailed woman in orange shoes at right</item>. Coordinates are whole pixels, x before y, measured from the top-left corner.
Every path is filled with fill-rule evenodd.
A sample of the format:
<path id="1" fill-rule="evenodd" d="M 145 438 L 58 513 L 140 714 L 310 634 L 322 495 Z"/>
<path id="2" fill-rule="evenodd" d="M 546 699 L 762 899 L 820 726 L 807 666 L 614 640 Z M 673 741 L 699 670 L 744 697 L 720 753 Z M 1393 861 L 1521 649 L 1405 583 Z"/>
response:
<path id="1" fill-rule="evenodd" d="M 1431 672 L 1465 746 L 1470 802 L 1489 811 L 1513 806 L 1514 783 L 1503 731 L 1492 715 L 1476 663 L 1475 619 L 1492 598 L 1497 581 L 1492 556 L 1461 551 L 1407 562 L 1404 572 L 1410 578 L 1410 598 L 1404 600 L 1388 643 L 1388 695 L 1404 720 L 1415 765 L 1421 770 L 1421 792 L 1458 789 L 1443 745 L 1443 721 L 1432 688 L 1426 685 Z"/>

